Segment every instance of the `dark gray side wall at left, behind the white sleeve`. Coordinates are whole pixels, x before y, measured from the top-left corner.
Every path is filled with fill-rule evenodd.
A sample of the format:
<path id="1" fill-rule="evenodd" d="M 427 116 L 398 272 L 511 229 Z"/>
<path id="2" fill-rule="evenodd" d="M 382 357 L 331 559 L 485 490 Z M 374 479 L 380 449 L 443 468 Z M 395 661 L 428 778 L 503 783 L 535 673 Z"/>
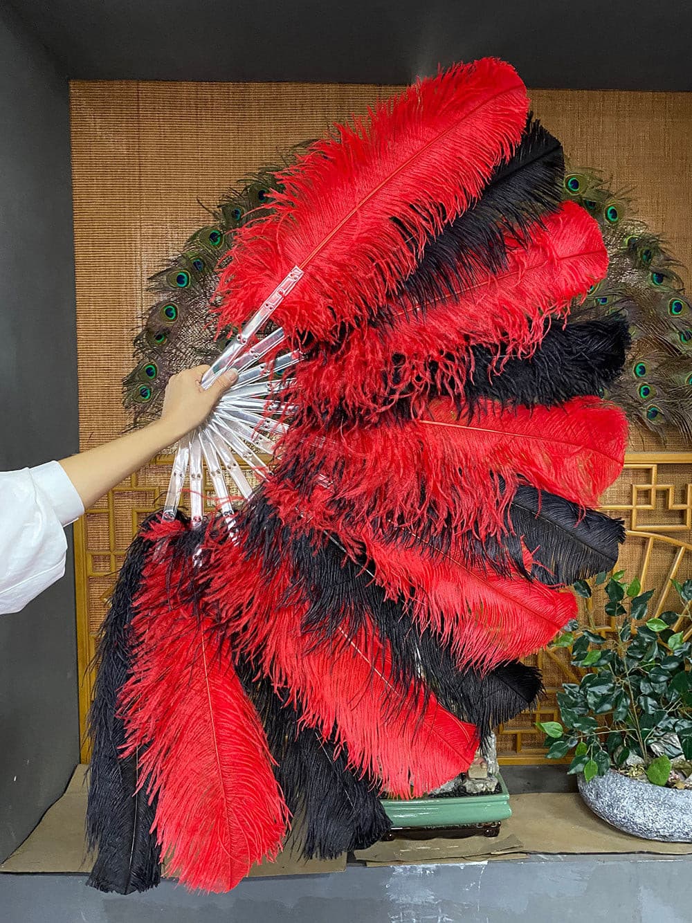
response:
<path id="1" fill-rule="evenodd" d="M 78 448 L 66 79 L 0 7 L 0 471 Z M 0 528 L 6 510 L 0 509 Z M 2 561 L 0 561 L 2 568 Z M 0 859 L 78 762 L 72 551 L 66 578 L 0 616 Z"/>

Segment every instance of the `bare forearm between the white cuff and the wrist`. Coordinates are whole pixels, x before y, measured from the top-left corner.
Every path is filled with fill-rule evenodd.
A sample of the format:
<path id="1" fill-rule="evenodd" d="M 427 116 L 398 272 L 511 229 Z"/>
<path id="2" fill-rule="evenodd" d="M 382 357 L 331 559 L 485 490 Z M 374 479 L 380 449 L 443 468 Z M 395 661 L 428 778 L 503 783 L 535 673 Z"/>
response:
<path id="1" fill-rule="evenodd" d="M 183 435 L 164 420 L 127 433 L 97 449 L 62 459 L 60 464 L 81 497 L 84 509 L 92 506 L 129 474 L 138 471 L 154 455 Z"/>

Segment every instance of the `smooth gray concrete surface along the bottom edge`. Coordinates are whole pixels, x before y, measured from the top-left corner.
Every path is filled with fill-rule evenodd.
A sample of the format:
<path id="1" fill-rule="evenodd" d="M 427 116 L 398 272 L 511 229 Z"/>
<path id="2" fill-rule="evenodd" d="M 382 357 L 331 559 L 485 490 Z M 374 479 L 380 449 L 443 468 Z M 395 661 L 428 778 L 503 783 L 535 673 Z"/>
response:
<path id="1" fill-rule="evenodd" d="M 531 857 L 463 865 L 350 867 L 250 879 L 229 894 L 164 881 L 122 897 L 81 875 L 4 875 L 3 923 L 689 923 L 692 858 Z"/>

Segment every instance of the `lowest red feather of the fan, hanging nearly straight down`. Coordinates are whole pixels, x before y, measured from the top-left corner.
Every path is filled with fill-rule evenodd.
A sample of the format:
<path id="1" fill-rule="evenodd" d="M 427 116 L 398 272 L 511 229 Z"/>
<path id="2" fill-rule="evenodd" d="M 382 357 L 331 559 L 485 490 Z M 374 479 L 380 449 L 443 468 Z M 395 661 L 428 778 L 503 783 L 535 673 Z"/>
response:
<path id="1" fill-rule="evenodd" d="M 189 565 L 189 562 L 187 562 Z M 171 598 L 189 589 L 189 566 L 170 568 L 165 547 L 145 572 L 133 622 L 133 674 L 122 695 L 128 749 L 140 751 L 163 855 L 186 886 L 225 892 L 273 858 L 288 811 L 262 725 L 209 617 Z"/>

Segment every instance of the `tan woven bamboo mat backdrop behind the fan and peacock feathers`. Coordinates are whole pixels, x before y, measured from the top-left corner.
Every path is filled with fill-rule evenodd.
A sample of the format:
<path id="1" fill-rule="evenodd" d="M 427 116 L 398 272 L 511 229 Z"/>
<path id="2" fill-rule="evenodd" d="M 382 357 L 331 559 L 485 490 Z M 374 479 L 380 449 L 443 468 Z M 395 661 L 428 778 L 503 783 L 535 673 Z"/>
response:
<path id="1" fill-rule="evenodd" d="M 76 81 L 71 86 L 81 448 L 118 435 L 128 420 L 120 381 L 150 304 L 146 279 L 208 223 L 240 177 L 280 150 L 362 113 L 392 87 Z M 533 108 L 575 165 L 600 168 L 633 190 L 638 213 L 692 265 L 692 95 L 539 90 Z M 200 204 L 203 203 L 203 204 Z M 689 282 L 689 276 L 686 276 Z M 647 586 L 689 575 L 692 454 L 635 433 L 626 472 L 604 498 L 631 530 L 623 564 Z M 82 729 L 92 689 L 94 639 L 137 523 L 168 481 L 159 459 L 115 488 L 78 523 L 78 652 Z M 653 536 L 653 537 L 650 537 Z M 682 543 L 682 544 L 681 544 Z M 660 600 L 663 607 L 665 599 Z M 561 656 L 540 655 L 549 693 L 570 676 Z M 555 715 L 552 694 L 540 716 Z M 498 738 L 509 762 L 541 762 L 537 713 Z M 85 744 L 84 756 L 88 753 Z"/>

